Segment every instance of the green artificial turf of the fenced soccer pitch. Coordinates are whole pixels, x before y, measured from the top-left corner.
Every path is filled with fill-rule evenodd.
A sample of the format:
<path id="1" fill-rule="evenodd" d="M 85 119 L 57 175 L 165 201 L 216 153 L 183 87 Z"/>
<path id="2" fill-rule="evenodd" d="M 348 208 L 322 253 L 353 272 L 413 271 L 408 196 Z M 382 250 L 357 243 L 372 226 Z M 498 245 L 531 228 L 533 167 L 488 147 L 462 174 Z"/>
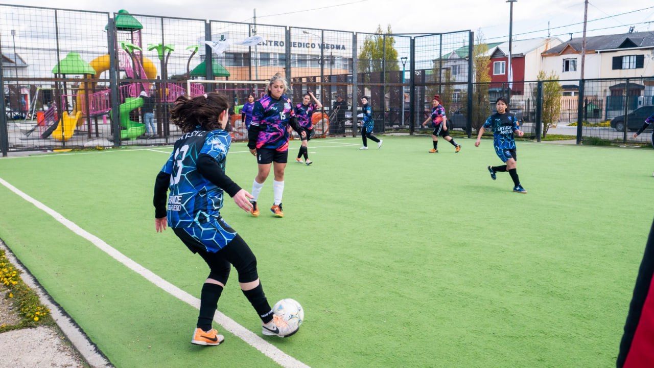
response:
<path id="1" fill-rule="evenodd" d="M 300 301 L 290 339 L 265 339 L 311 367 L 606 367 L 614 364 L 654 213 L 649 149 L 518 143 L 513 193 L 492 142 L 383 136 L 316 139 L 294 161 L 285 217 L 272 176 L 248 242 L 271 302 Z M 0 178 L 163 279 L 199 297 L 208 269 L 171 230 L 154 232 L 152 185 L 170 147 L 0 160 Z M 234 143 L 227 173 L 250 191 L 256 160 Z M 0 186 L 0 238 L 116 366 L 277 364 L 237 337 L 189 341 L 197 311 Z M 221 312 L 260 335 L 235 270 Z M 221 329 L 218 327 L 218 329 Z M 222 330 L 222 329 L 221 329 Z M 221 331 L 222 332 L 222 331 Z"/>

